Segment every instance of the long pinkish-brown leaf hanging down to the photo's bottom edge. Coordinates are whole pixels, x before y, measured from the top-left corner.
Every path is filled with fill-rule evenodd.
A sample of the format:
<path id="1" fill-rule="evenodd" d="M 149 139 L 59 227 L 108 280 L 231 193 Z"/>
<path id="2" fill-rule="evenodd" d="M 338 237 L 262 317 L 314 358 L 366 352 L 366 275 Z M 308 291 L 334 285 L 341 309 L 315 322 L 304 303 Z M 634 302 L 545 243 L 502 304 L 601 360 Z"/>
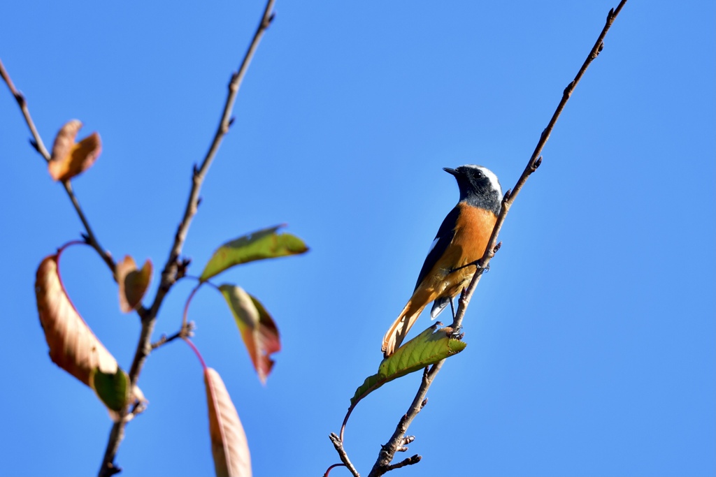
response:
<path id="1" fill-rule="evenodd" d="M 214 469 L 219 477 L 250 477 L 251 453 L 236 408 L 221 376 L 204 368 L 206 400 L 209 407 L 209 435 Z"/>

